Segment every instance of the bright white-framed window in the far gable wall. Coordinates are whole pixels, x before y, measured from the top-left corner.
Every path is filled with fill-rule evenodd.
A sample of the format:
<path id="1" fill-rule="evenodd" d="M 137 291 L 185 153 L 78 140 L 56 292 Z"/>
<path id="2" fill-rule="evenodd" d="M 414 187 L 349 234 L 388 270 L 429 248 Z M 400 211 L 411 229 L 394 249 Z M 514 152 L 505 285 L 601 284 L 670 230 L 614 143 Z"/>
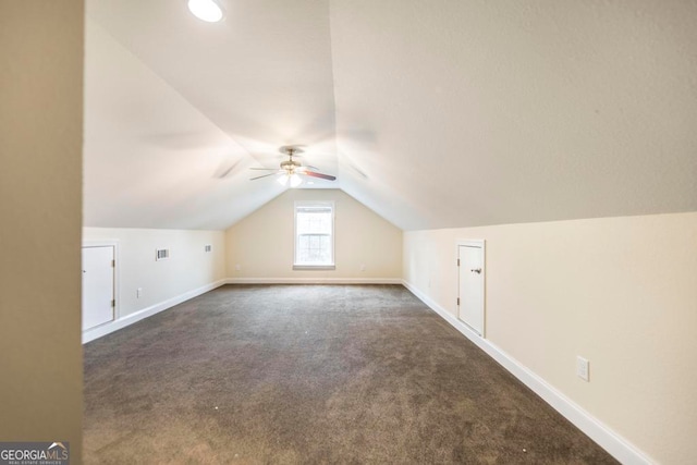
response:
<path id="1" fill-rule="evenodd" d="M 334 204 L 295 203 L 294 269 L 334 269 Z"/>

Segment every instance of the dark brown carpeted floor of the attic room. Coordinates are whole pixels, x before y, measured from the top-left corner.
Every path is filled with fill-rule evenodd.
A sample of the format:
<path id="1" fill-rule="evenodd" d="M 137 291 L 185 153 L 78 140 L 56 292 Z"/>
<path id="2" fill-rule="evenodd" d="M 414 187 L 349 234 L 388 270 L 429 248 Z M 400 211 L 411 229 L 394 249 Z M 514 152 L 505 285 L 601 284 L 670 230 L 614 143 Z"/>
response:
<path id="1" fill-rule="evenodd" d="M 87 344 L 84 461 L 615 463 L 400 285 L 227 285 Z"/>

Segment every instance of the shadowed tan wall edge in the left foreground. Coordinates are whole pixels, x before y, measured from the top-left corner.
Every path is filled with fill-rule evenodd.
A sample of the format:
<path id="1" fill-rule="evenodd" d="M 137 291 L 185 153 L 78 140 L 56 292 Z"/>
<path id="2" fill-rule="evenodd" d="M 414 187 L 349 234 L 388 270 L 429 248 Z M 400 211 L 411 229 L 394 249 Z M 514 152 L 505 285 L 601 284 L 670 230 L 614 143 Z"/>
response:
<path id="1" fill-rule="evenodd" d="M 0 440 L 82 450 L 82 0 L 0 2 Z"/>

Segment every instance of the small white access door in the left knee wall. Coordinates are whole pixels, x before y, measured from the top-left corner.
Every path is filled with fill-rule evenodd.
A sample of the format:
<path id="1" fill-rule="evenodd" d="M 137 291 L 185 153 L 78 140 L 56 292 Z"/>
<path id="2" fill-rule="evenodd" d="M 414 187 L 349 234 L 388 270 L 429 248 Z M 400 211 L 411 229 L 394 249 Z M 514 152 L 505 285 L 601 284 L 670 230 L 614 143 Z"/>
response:
<path id="1" fill-rule="evenodd" d="M 83 247 L 83 331 L 114 319 L 114 247 Z"/>

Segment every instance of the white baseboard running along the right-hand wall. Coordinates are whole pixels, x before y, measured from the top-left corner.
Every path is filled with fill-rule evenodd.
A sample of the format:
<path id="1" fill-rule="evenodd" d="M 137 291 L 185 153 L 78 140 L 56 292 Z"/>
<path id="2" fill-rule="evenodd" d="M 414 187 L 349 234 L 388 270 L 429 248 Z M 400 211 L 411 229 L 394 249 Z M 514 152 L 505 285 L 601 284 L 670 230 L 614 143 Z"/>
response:
<path id="1" fill-rule="evenodd" d="M 421 293 L 416 286 L 404 280 L 402 284 L 622 464 L 650 465 L 655 463 L 629 441 L 608 428 L 596 417 L 547 383 L 542 378 L 519 364 L 497 345 L 479 336 L 465 323 L 455 318 L 454 315 Z"/>

